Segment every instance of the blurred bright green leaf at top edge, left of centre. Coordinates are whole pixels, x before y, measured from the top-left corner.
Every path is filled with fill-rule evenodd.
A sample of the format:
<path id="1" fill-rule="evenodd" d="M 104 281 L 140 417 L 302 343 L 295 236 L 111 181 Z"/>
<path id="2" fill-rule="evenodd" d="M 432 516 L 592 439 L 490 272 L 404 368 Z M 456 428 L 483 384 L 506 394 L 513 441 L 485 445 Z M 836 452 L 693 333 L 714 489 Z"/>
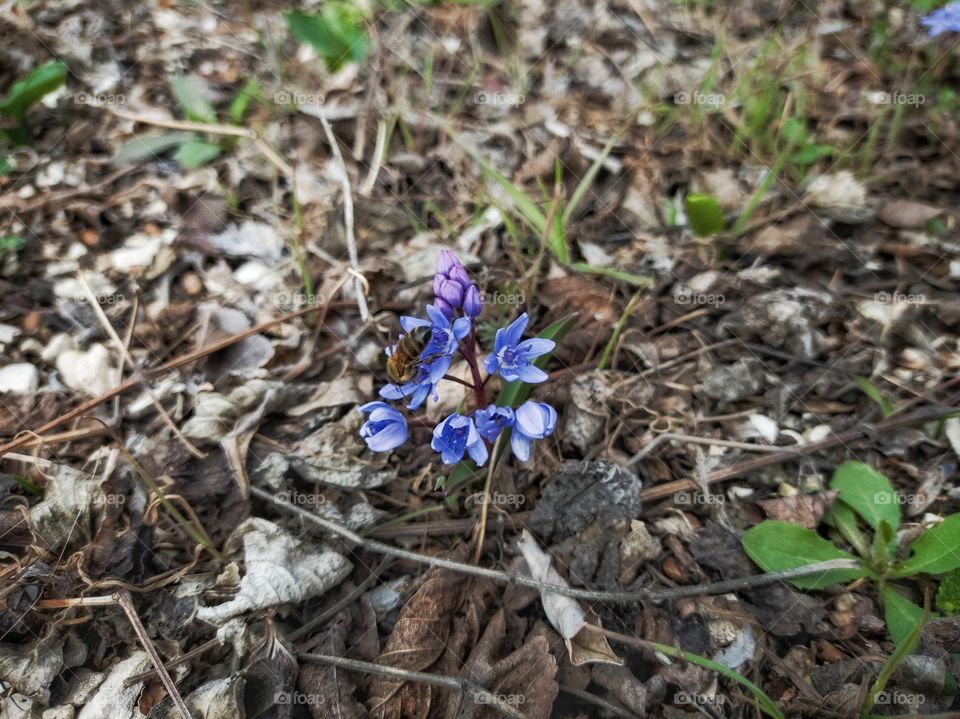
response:
<path id="1" fill-rule="evenodd" d="M 333 71 L 370 53 L 363 16 L 348 3 L 325 3 L 319 15 L 288 12 L 284 17 L 293 36 L 313 47 Z"/>

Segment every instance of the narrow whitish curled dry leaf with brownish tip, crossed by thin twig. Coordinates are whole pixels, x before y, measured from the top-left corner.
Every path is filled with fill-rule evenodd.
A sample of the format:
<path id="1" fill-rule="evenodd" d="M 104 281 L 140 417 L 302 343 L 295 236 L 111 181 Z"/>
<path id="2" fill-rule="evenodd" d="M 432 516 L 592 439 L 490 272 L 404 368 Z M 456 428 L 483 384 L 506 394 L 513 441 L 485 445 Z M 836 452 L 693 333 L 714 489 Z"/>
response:
<path id="1" fill-rule="evenodd" d="M 566 585 L 566 580 L 550 566 L 550 557 L 540 549 L 527 530 L 523 530 L 519 547 L 530 569 L 530 576 L 546 584 Z M 547 619 L 567 645 L 572 664 L 623 664 L 623 660 L 614 654 L 603 634 L 597 631 L 600 620 L 596 616 L 588 616 L 575 600 L 562 594 L 541 592 L 540 599 Z"/>

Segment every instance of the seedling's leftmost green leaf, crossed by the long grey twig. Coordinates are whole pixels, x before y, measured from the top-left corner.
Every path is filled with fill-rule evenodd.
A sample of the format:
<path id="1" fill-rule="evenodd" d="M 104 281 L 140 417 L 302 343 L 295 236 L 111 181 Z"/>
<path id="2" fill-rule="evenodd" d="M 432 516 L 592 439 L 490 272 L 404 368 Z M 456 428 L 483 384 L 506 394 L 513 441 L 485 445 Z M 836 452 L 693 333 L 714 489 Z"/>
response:
<path id="1" fill-rule="evenodd" d="M 799 524 L 767 520 L 743 533 L 743 548 L 765 572 L 805 567 L 831 559 L 854 559 L 834 544 Z M 821 589 L 864 576 L 862 569 L 832 569 L 820 576 L 789 580 L 804 589 Z"/>

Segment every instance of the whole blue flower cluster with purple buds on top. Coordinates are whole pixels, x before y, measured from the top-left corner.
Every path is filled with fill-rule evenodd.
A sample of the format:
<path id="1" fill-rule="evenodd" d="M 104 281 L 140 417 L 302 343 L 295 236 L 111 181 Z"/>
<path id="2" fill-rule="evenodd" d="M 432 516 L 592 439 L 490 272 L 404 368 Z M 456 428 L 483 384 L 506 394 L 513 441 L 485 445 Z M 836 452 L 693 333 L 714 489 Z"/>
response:
<path id="1" fill-rule="evenodd" d="M 505 381 L 520 380 L 530 384 L 544 382 L 547 373 L 533 361 L 552 351 L 555 343 L 546 339 L 523 339 L 529 323 L 526 313 L 507 327 L 497 330 L 493 352 L 483 363 L 487 379 L 480 380 L 477 361 L 476 332 L 473 320 L 483 308 L 477 286 L 466 268 L 449 250 L 444 250 L 437 263 L 433 280 L 434 301 L 427 305 L 427 319 L 401 317 L 406 333 L 419 327 L 430 328 L 430 338 L 420 353 L 416 376 L 403 385 L 388 384 L 380 390 L 386 400 L 407 400 L 407 409 L 417 409 L 426 398 L 437 399 L 436 385 L 444 379 L 454 355 L 459 351 L 470 365 L 474 378 L 474 396 L 478 405 L 485 404 L 487 379 L 500 375 Z M 402 339 L 402 336 L 401 336 Z M 396 347 L 389 348 L 391 355 Z M 360 436 L 375 452 L 389 452 L 407 441 L 410 435 L 404 414 L 382 401 L 368 402 L 359 408 L 369 415 L 360 428 Z M 440 453 L 444 464 L 455 464 L 468 455 L 477 466 L 486 463 L 490 447 L 504 430 L 510 430 L 510 447 L 522 462 L 530 459 L 534 440 L 544 439 L 557 428 L 557 411 L 549 404 L 528 400 L 518 408 L 495 404 L 477 406 L 468 414 L 454 412 L 433 430 L 431 447 Z"/>

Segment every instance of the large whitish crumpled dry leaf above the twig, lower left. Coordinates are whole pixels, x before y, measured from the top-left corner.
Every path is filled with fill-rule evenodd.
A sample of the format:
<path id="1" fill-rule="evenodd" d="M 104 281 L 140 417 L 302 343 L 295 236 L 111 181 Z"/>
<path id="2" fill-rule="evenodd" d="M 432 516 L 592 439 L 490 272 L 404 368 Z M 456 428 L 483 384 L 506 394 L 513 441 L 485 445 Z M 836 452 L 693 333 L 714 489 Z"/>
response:
<path id="1" fill-rule="evenodd" d="M 228 554 L 242 545 L 245 572 L 233 599 L 200 607 L 197 618 L 222 624 L 239 614 L 278 604 L 301 604 L 339 584 L 352 565 L 336 552 L 302 542 L 273 522 L 251 517 L 226 543 Z"/>

